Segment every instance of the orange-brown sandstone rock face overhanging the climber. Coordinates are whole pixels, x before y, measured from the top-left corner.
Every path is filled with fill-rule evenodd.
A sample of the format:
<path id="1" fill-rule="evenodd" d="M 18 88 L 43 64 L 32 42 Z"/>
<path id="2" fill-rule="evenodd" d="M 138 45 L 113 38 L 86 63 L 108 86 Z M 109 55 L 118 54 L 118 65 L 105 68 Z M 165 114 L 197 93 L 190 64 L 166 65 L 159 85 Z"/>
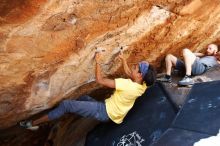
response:
<path id="1" fill-rule="evenodd" d="M 0 128 L 98 88 L 94 52 L 106 75 L 131 64 L 160 67 L 167 53 L 219 42 L 219 0 L 2 0 Z M 85 87 L 85 88 L 84 88 Z"/>

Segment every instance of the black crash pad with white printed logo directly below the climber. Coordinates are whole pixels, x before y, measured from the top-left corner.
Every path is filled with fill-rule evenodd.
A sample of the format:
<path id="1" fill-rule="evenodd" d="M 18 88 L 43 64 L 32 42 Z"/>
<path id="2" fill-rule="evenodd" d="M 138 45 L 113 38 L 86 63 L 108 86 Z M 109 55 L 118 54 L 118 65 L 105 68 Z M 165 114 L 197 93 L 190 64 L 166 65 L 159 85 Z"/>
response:
<path id="1" fill-rule="evenodd" d="M 101 123 L 88 133 L 86 146 L 147 146 L 171 125 L 176 111 L 158 84 L 147 89 L 122 124 Z M 121 145 L 120 145 L 121 144 Z"/>

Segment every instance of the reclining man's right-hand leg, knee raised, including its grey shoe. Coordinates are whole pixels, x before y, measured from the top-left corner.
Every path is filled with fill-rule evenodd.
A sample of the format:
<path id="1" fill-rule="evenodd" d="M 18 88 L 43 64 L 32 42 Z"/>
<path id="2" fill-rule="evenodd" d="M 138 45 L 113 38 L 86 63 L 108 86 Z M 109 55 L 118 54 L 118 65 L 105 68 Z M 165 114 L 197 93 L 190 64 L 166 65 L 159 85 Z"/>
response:
<path id="1" fill-rule="evenodd" d="M 183 58 L 186 67 L 186 75 L 181 81 L 179 81 L 179 85 L 192 85 L 194 84 L 193 79 L 191 78 L 192 66 L 196 60 L 196 56 L 189 49 L 183 49 Z"/>

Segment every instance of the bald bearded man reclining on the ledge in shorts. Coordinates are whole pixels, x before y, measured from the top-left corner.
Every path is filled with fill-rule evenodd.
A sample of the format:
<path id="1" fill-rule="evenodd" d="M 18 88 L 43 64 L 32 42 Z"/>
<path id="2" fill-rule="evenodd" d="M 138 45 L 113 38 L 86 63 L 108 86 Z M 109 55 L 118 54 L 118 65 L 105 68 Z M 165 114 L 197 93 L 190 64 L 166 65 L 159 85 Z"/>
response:
<path id="1" fill-rule="evenodd" d="M 184 61 L 178 59 L 172 54 L 168 54 L 165 58 L 166 62 L 166 75 L 158 78 L 160 82 L 172 82 L 171 69 L 174 66 L 178 71 L 185 73 L 182 80 L 179 81 L 179 85 L 187 86 L 194 84 L 191 75 L 200 75 L 206 72 L 211 67 L 219 64 L 215 54 L 218 52 L 218 46 L 216 44 L 209 44 L 206 53 L 192 53 L 189 49 L 183 49 Z"/>

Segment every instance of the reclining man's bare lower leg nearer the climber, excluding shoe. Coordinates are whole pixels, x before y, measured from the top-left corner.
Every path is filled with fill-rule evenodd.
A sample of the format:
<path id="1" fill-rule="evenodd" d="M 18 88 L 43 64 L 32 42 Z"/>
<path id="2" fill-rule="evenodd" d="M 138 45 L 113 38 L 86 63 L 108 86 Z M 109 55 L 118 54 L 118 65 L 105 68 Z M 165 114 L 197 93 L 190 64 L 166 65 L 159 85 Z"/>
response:
<path id="1" fill-rule="evenodd" d="M 176 65 L 177 57 L 172 54 L 168 54 L 165 59 L 166 62 L 166 75 L 171 75 L 172 67 Z"/>

